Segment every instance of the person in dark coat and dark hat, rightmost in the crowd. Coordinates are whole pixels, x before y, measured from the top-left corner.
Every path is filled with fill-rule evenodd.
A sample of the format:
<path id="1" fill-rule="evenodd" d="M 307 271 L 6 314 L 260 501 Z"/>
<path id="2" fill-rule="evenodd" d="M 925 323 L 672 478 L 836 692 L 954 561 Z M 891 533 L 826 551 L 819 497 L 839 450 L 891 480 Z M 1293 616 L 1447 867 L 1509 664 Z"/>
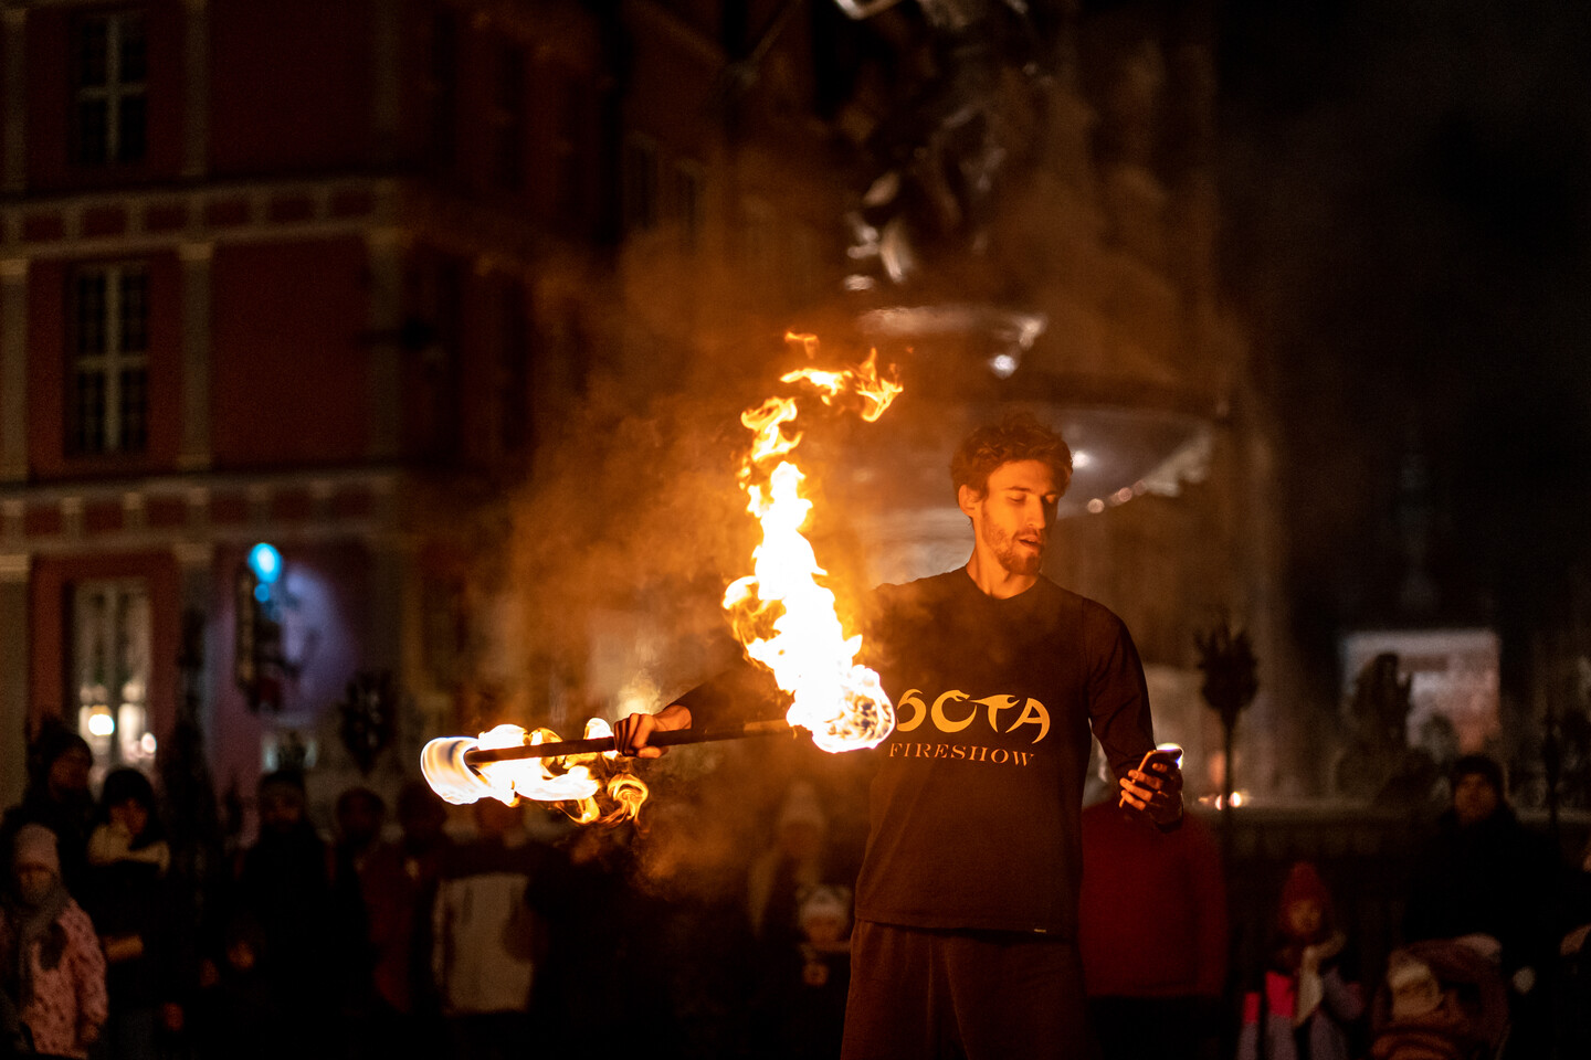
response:
<path id="1" fill-rule="evenodd" d="M 1496 939 L 1510 985 L 1507 1055 L 1546 1055 L 1562 868 L 1548 841 L 1508 806 L 1496 760 L 1465 755 L 1453 764 L 1451 780 L 1453 803 L 1414 861 L 1403 936 Z"/>

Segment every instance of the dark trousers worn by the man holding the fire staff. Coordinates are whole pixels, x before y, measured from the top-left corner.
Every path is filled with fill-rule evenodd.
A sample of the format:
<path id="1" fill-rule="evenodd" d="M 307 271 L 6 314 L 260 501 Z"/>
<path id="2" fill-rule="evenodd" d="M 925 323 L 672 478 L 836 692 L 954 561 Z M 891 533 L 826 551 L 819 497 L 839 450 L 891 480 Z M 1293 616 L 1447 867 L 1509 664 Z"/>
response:
<path id="1" fill-rule="evenodd" d="M 1072 942 L 858 920 L 843 1060 L 1093 1060 Z"/>

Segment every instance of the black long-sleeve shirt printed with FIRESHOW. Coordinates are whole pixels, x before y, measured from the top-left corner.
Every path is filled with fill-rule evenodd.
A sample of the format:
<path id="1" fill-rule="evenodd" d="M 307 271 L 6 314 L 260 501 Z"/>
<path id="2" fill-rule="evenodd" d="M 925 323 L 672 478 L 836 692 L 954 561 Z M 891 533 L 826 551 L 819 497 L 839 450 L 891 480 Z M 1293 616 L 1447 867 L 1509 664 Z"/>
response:
<path id="1" fill-rule="evenodd" d="M 1122 620 L 1047 578 L 996 599 L 959 569 L 880 586 L 864 653 L 897 721 L 872 752 L 856 915 L 1074 939 L 1090 729 L 1117 777 L 1153 747 Z M 681 702 L 711 723 L 754 683 L 732 672 Z"/>

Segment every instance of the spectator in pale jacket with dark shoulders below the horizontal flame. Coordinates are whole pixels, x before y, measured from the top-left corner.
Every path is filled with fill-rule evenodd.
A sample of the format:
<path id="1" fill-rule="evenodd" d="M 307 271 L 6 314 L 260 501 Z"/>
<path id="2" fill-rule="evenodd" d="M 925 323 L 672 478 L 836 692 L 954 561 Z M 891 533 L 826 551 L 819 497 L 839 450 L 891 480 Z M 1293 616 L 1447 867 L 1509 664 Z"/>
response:
<path id="1" fill-rule="evenodd" d="M 530 992 L 543 927 L 527 901 L 552 852 L 531 839 L 523 810 L 474 804 L 479 836 L 442 858 L 431 968 L 458 1060 L 508 1060 L 530 1041 Z"/>

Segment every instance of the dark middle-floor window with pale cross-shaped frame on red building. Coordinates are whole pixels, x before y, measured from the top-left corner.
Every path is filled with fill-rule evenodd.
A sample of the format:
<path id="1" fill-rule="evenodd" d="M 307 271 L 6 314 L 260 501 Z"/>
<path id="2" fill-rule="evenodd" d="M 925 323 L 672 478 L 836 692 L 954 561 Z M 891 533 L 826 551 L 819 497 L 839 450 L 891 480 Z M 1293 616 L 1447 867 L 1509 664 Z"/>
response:
<path id="1" fill-rule="evenodd" d="M 67 451 L 142 453 L 148 442 L 150 281 L 137 264 L 72 273 Z"/>

